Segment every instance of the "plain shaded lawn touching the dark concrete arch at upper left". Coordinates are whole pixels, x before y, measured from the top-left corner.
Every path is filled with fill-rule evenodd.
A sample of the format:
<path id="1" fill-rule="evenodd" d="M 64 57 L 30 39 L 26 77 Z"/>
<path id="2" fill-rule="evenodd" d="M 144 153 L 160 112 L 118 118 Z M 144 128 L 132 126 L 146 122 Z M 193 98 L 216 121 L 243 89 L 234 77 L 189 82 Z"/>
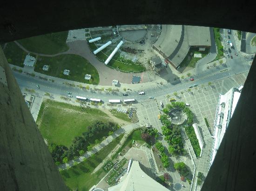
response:
<path id="1" fill-rule="evenodd" d="M 56 32 L 36 37 L 24 38 L 18 42 L 28 51 L 40 54 L 57 54 L 68 50 L 68 31 Z"/>

